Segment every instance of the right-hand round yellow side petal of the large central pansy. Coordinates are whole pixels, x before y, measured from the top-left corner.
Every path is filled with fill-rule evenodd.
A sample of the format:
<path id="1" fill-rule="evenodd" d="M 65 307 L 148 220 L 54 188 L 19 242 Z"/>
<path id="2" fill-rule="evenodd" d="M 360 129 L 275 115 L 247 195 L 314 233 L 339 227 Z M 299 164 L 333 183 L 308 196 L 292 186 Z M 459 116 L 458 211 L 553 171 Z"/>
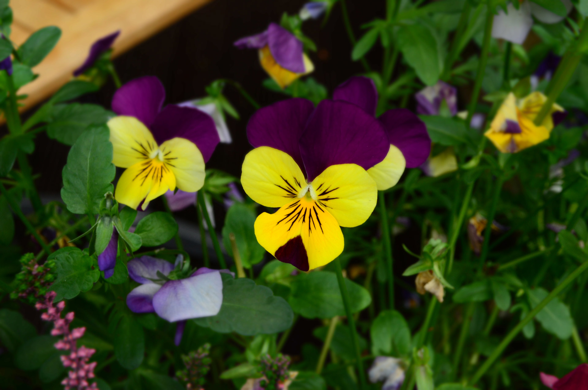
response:
<path id="1" fill-rule="evenodd" d="M 376 207 L 377 186 L 368 172 L 356 164 L 326 168 L 312 181 L 318 204 L 333 214 L 340 226 L 358 226 Z"/>

